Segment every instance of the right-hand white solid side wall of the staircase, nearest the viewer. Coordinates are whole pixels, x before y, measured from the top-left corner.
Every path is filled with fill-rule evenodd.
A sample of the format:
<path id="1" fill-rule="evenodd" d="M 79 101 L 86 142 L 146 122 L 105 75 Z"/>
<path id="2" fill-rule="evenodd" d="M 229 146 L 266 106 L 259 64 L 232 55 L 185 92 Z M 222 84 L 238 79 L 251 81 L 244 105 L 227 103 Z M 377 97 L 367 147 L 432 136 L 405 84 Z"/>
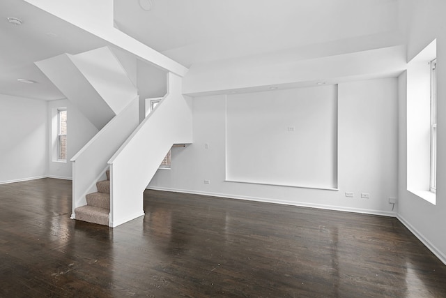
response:
<path id="1" fill-rule="evenodd" d="M 168 73 L 167 82 L 167 95 L 108 162 L 111 227 L 144 215 L 144 189 L 167 151 L 192 143 L 192 105 L 181 94 L 182 78 Z"/>

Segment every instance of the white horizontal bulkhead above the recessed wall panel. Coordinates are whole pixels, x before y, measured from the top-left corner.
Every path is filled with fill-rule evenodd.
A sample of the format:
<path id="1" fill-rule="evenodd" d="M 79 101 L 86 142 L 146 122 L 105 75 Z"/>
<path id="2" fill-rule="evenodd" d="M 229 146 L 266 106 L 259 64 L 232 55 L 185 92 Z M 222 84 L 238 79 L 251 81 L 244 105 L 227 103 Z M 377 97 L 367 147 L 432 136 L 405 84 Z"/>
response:
<path id="1" fill-rule="evenodd" d="M 295 59 L 293 53 L 277 52 L 198 63 L 185 76 L 183 93 L 194 96 L 216 90 L 392 76 L 406 69 L 405 55 L 406 48 L 400 45 L 314 59 Z"/>

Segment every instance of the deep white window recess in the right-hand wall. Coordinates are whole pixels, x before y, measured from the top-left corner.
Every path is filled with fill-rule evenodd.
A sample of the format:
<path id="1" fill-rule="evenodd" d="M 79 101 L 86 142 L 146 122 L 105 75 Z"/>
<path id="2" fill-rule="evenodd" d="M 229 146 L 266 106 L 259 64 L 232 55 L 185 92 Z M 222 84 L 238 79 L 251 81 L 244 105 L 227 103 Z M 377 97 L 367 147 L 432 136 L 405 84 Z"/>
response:
<path id="1" fill-rule="evenodd" d="M 436 204 L 437 43 L 433 40 L 408 62 L 407 190 Z"/>

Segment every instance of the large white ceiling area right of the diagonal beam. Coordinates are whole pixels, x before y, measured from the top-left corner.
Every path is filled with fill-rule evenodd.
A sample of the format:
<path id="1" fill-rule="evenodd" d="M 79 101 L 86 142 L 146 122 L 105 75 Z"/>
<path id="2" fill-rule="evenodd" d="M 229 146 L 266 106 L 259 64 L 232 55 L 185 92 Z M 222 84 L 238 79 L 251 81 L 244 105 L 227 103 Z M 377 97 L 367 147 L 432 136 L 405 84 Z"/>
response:
<path id="1" fill-rule="evenodd" d="M 397 0 L 114 0 L 114 18 L 187 67 L 399 31 Z"/>

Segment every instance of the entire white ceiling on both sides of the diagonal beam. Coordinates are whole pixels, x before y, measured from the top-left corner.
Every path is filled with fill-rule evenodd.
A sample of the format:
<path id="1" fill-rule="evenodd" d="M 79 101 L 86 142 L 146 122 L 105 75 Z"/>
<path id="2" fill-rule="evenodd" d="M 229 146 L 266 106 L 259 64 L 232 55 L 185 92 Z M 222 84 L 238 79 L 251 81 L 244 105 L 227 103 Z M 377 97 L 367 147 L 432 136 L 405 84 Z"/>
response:
<path id="1" fill-rule="evenodd" d="M 139 1 L 152 9 L 141 9 Z M 400 1 L 114 0 L 114 17 L 118 29 L 189 67 L 259 54 L 305 59 L 395 45 L 403 36 Z M 0 38 L 0 94 L 45 100 L 64 96 L 34 61 L 107 45 L 22 0 L 0 1 Z"/>

